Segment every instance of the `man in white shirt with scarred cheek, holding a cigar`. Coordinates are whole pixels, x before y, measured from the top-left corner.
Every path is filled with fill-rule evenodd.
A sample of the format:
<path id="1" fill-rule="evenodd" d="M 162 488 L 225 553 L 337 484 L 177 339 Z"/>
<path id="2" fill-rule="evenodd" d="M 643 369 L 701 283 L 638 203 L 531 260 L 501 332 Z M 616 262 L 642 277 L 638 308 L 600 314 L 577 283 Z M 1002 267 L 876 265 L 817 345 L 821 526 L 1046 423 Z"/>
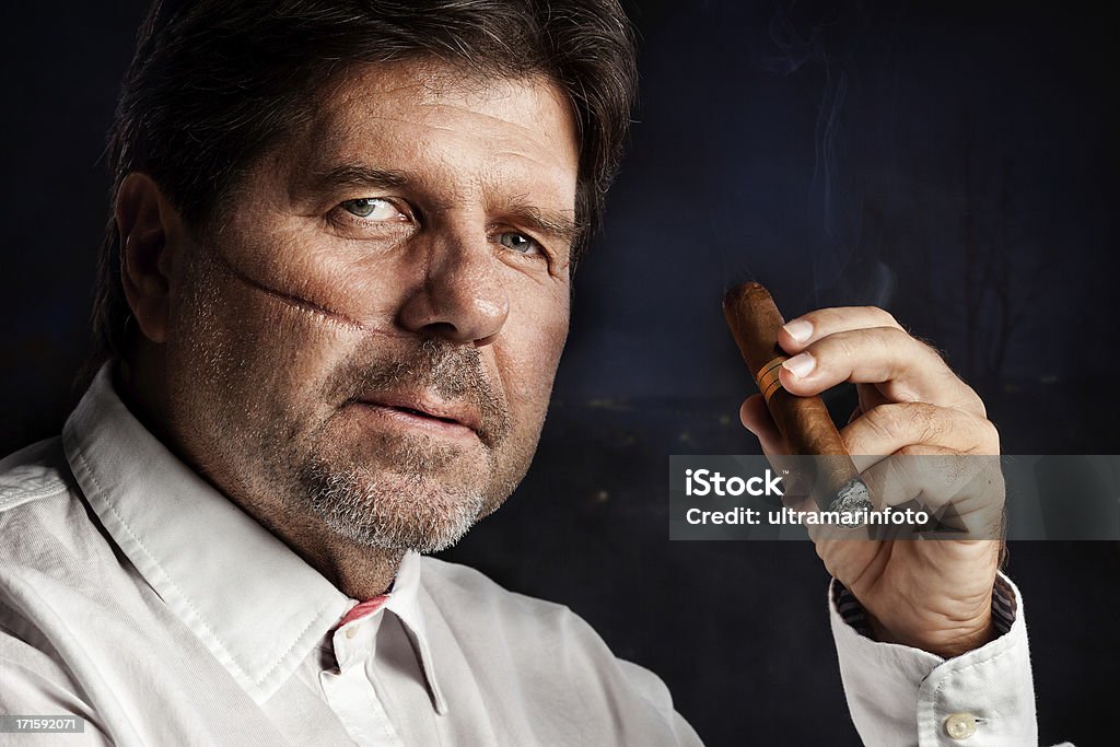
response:
<path id="1" fill-rule="evenodd" d="M 153 8 L 106 363 L 62 439 L 3 463 L 0 711 L 122 745 L 699 741 L 566 608 L 420 554 L 529 467 L 633 57 L 612 0 Z M 884 311 L 781 343 L 791 392 L 861 384 L 852 452 L 998 451 Z M 785 450 L 757 398 L 741 417 Z M 1034 741 L 997 543 L 818 551 L 866 741 Z"/>

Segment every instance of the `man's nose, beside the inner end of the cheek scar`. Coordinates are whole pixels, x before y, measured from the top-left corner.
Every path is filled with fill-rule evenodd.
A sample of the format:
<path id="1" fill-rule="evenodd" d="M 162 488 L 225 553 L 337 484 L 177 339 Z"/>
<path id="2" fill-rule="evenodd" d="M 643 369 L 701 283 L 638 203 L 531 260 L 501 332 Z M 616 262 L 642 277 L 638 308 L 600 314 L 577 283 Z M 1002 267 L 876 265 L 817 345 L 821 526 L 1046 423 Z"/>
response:
<path id="1" fill-rule="evenodd" d="M 485 237 L 435 242 L 420 287 L 401 307 L 401 326 L 452 343 L 489 345 L 510 316 L 500 264 Z"/>

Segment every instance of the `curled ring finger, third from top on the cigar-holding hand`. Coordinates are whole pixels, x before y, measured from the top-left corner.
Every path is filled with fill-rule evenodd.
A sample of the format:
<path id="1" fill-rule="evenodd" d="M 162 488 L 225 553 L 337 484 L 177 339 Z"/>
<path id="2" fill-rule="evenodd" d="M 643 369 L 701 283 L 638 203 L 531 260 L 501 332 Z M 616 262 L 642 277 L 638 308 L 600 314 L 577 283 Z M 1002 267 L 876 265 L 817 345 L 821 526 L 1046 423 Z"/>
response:
<path id="1" fill-rule="evenodd" d="M 999 431 L 990 420 L 925 402 L 880 404 L 844 426 L 840 438 L 860 470 L 908 446 L 999 454 Z"/>

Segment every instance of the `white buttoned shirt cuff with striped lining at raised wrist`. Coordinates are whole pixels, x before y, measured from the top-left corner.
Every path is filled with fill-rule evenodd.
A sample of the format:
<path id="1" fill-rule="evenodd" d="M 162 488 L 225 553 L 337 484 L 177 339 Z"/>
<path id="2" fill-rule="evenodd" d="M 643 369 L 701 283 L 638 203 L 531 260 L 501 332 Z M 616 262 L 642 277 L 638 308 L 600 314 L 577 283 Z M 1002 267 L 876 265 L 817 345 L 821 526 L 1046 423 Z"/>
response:
<path id="1" fill-rule="evenodd" d="M 871 639 L 862 607 L 836 580 L 829 614 L 848 708 L 865 744 L 1037 744 L 1023 598 L 1002 573 L 992 595 L 999 636 L 949 660 Z"/>

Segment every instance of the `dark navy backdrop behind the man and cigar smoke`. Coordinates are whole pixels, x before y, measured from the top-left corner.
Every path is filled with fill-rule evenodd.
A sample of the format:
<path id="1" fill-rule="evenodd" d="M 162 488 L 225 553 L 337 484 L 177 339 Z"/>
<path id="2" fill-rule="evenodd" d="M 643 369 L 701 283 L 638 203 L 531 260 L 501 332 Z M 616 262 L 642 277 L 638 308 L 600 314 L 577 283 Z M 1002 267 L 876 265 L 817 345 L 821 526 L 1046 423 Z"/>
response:
<path id="1" fill-rule="evenodd" d="M 80 393 L 101 153 L 143 4 L 3 21 L 2 451 Z M 886 306 L 981 392 L 1009 454 L 1120 450 L 1118 26 L 976 4 L 631 4 L 642 104 L 538 460 L 447 554 L 570 605 L 710 744 L 857 741 L 812 549 L 668 541 L 668 455 L 756 450 L 725 287 L 758 279 L 787 316 Z M 1118 570 L 1112 543 L 1011 547 L 1046 744 L 1107 735 Z"/>

